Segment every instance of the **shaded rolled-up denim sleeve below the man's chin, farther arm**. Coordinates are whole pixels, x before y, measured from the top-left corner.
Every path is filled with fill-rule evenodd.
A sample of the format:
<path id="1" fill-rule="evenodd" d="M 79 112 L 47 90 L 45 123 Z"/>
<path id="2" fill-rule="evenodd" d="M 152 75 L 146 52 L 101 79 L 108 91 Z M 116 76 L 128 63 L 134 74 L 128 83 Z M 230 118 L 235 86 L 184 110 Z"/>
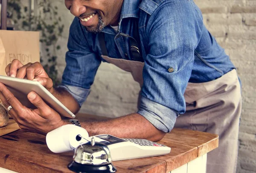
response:
<path id="1" fill-rule="evenodd" d="M 66 67 L 59 87 L 70 92 L 80 107 L 90 93 L 90 86 L 101 63 L 101 58 L 94 53 L 88 39 L 93 42 L 92 34 L 87 33 L 79 19 L 75 18 L 70 26 Z"/>

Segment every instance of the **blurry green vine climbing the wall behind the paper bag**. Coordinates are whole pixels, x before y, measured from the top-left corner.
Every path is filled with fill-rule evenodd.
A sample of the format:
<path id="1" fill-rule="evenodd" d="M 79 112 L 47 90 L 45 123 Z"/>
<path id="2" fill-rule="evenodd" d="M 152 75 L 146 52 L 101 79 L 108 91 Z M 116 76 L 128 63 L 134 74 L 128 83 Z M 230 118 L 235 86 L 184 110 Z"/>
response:
<path id="1" fill-rule="evenodd" d="M 27 1 L 26 1 L 27 2 Z M 61 37 L 64 24 L 58 16 L 58 7 L 54 6 L 53 0 L 35 0 L 36 11 L 29 9 L 29 4 L 23 4 L 23 0 L 8 0 L 8 17 L 13 20 L 15 30 L 41 31 L 40 42 L 44 50 L 40 52 L 40 62 L 44 70 L 56 86 L 60 83 L 58 79 L 57 54 L 61 46 L 57 44 Z M 46 54 L 46 58 L 42 57 Z M 47 61 L 45 62 L 45 59 Z"/>

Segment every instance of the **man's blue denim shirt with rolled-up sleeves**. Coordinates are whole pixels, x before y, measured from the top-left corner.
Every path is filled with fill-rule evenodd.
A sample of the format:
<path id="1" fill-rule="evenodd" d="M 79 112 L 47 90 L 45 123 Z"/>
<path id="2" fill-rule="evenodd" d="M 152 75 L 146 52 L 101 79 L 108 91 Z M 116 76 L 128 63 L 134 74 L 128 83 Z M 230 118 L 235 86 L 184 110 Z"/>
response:
<path id="1" fill-rule="evenodd" d="M 234 67 L 203 24 L 192 0 L 124 0 L 118 32 L 107 26 L 108 56 L 133 60 L 128 37 L 138 27 L 140 51 L 145 62 L 141 105 L 137 113 L 164 132 L 186 110 L 183 97 L 188 82 L 208 82 Z M 67 66 L 62 78 L 79 105 L 85 101 L 102 59 L 99 34 L 90 33 L 75 18 L 70 26 Z M 173 72 L 168 69 L 173 68 Z"/>

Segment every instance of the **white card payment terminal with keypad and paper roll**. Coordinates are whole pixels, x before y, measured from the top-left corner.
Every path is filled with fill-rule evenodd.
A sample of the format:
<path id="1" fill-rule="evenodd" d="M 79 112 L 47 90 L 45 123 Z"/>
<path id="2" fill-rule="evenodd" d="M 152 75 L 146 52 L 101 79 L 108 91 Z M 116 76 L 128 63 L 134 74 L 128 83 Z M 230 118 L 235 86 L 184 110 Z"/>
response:
<path id="1" fill-rule="evenodd" d="M 79 145 L 92 141 L 108 146 L 113 161 L 161 156 L 170 153 L 171 148 L 146 139 L 118 138 L 109 134 L 89 136 L 84 128 L 63 125 L 47 133 L 48 148 L 54 153 L 75 150 Z"/>

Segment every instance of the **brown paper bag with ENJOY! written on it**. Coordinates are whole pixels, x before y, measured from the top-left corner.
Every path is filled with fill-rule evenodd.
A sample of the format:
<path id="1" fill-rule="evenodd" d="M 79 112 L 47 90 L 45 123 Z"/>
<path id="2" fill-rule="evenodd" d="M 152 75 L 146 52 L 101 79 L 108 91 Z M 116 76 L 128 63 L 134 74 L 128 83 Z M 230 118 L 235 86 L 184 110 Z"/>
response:
<path id="1" fill-rule="evenodd" d="M 0 75 L 5 75 L 6 66 L 18 59 L 23 65 L 40 61 L 38 31 L 0 30 Z"/>

